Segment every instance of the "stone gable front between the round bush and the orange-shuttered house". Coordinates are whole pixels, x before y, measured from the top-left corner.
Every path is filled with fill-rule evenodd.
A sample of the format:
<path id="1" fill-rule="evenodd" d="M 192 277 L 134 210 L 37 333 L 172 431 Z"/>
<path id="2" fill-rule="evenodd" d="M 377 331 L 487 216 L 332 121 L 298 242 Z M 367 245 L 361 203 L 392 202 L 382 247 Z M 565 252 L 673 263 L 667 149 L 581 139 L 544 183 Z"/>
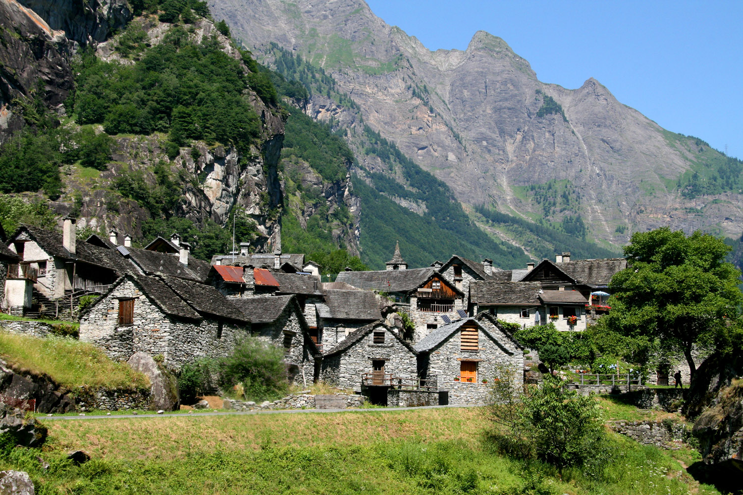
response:
<path id="1" fill-rule="evenodd" d="M 383 334 L 383 343 L 374 344 L 375 333 Z M 377 341 L 380 340 L 377 335 Z M 322 359 L 320 376 L 328 384 L 361 390 L 364 373 L 374 371 L 374 361 L 383 373 L 399 378 L 415 378 L 418 366 L 415 351 L 384 324 L 367 325 L 351 333 Z"/>

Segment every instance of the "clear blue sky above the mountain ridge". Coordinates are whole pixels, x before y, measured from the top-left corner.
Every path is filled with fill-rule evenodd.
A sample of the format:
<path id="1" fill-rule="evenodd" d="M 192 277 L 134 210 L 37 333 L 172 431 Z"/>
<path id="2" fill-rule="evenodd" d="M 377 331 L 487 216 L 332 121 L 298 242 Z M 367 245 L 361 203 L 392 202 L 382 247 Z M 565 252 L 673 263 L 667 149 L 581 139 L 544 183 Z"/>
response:
<path id="1" fill-rule="evenodd" d="M 485 30 L 542 82 L 594 77 L 669 131 L 743 159 L 743 0 L 367 2 L 429 50 L 464 50 Z"/>

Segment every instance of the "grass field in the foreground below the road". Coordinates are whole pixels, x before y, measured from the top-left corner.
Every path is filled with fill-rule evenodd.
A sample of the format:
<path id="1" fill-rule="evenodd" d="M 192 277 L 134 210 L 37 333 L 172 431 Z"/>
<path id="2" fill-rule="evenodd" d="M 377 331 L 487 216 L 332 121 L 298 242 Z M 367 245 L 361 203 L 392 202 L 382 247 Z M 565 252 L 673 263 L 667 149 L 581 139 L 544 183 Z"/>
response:
<path id="1" fill-rule="evenodd" d="M 42 452 L 15 448 L 38 494 L 716 493 L 673 453 L 613 436 L 611 462 L 568 470 L 508 459 L 480 408 L 47 422 Z M 65 459 L 82 448 L 92 460 Z M 45 471 L 37 456 L 49 462 Z M 677 460 L 678 459 L 678 460 Z M 594 472 L 595 471 L 595 472 Z"/>

